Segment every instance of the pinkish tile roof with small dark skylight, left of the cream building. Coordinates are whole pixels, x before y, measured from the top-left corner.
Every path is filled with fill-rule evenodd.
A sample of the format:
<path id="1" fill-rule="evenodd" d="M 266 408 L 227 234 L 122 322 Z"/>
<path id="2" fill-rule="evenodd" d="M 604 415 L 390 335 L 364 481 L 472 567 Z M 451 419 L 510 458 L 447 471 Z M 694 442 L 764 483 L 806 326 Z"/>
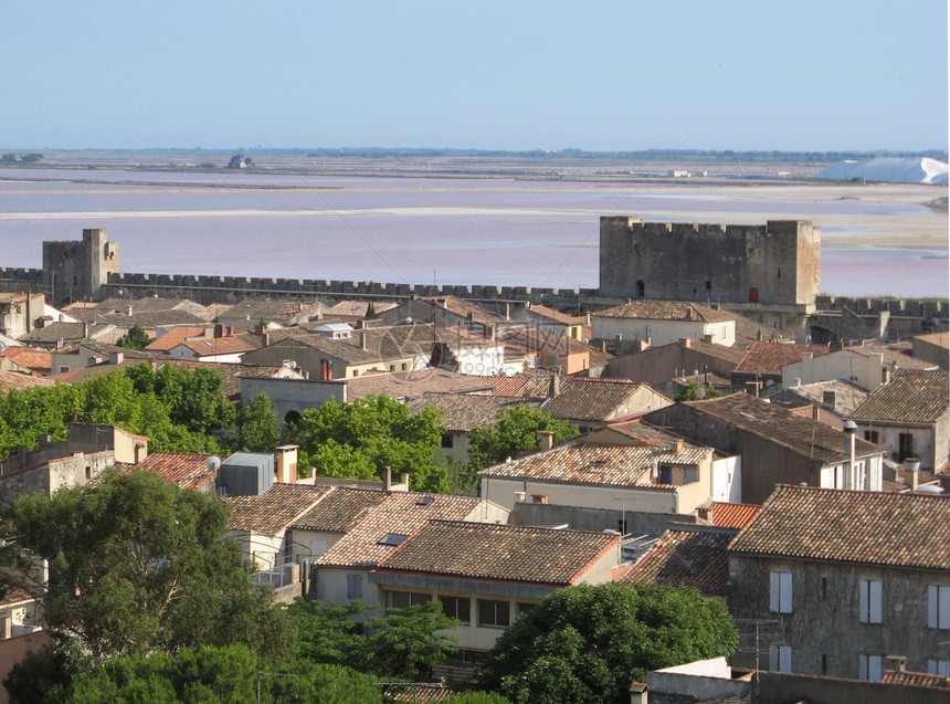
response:
<path id="1" fill-rule="evenodd" d="M 391 492 L 386 501 L 370 507 L 357 526 L 331 545 L 315 564 L 374 567 L 395 547 L 381 544 L 387 535 L 412 535 L 426 521 L 464 521 L 472 517 L 479 504 L 481 500 L 472 496 Z"/>

